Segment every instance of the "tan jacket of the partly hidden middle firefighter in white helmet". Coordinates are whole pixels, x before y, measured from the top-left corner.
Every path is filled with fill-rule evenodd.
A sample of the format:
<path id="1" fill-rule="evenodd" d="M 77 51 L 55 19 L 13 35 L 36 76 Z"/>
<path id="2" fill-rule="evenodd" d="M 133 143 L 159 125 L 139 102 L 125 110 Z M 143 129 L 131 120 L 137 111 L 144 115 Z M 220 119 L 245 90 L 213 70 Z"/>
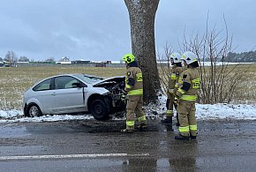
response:
<path id="1" fill-rule="evenodd" d="M 168 91 L 169 93 L 175 93 L 177 90 L 177 84 L 178 84 L 178 79 L 180 74 L 182 73 L 183 68 L 182 67 L 177 67 L 173 66 L 172 70 L 170 71 L 170 78 L 168 82 Z"/>

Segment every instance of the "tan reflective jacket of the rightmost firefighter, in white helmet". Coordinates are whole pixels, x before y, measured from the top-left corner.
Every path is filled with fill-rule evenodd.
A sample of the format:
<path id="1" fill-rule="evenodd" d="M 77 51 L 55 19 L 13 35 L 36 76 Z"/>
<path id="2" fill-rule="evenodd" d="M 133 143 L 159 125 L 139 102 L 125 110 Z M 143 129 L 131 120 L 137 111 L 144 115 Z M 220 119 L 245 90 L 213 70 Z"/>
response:
<path id="1" fill-rule="evenodd" d="M 184 101 L 196 101 L 200 88 L 200 73 L 196 68 L 188 68 L 182 72 L 177 89 L 177 97 Z"/>

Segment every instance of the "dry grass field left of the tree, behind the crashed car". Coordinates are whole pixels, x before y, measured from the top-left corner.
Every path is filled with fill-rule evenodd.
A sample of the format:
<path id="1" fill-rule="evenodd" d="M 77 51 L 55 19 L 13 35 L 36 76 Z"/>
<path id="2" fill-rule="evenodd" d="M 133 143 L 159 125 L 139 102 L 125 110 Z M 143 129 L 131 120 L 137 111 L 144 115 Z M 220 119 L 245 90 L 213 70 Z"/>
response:
<path id="1" fill-rule="evenodd" d="M 104 78 L 124 75 L 125 68 L 19 67 L 0 68 L 0 109 L 21 109 L 22 96 L 35 82 L 57 74 L 87 73 Z"/>

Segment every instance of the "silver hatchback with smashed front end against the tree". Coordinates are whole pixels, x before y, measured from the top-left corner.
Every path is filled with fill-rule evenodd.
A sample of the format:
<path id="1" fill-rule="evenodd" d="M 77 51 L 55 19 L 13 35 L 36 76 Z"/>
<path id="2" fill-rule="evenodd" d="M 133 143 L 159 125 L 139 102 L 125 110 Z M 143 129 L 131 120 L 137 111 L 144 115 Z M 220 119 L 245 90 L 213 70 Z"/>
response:
<path id="1" fill-rule="evenodd" d="M 121 94 L 124 76 L 102 79 L 86 74 L 64 74 L 43 79 L 23 97 L 25 116 L 90 112 L 107 119 L 110 112 L 124 110 Z"/>

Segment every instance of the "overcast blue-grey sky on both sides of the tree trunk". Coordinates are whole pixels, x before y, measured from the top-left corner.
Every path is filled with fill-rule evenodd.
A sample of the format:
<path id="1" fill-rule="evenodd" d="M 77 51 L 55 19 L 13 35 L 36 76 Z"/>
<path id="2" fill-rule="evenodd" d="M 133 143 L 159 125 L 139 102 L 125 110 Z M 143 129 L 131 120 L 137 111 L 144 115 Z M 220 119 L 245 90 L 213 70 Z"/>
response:
<path id="1" fill-rule="evenodd" d="M 225 16 L 236 52 L 255 50 L 255 9 L 255 0 L 160 0 L 156 50 L 166 42 L 178 49 L 184 33 L 204 33 L 207 13 L 219 31 Z M 120 60 L 132 51 L 124 0 L 0 0 L 0 56 L 8 50 L 34 60 Z"/>

